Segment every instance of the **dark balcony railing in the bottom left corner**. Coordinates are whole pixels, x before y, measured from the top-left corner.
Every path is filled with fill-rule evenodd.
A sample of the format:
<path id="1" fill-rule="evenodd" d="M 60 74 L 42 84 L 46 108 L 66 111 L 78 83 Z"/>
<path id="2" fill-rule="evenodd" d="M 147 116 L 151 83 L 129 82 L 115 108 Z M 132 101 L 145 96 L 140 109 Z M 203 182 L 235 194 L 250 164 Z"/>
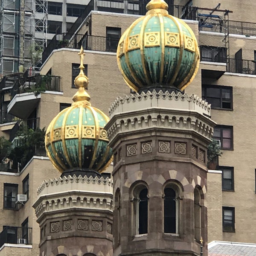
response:
<path id="1" fill-rule="evenodd" d="M 3 244 L 32 244 L 32 228 L 4 227 L 0 233 L 0 247 Z"/>

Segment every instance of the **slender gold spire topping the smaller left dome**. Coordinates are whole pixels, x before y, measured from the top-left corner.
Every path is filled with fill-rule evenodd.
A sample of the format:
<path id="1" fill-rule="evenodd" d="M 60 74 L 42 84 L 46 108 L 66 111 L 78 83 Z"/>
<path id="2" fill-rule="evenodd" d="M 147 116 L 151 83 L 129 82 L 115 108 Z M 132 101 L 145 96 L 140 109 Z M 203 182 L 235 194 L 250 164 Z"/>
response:
<path id="1" fill-rule="evenodd" d="M 74 103 L 72 105 L 74 105 L 76 102 L 81 102 L 83 101 L 85 103 L 85 105 L 90 105 L 90 95 L 85 91 L 85 89 L 87 89 L 88 84 L 89 84 L 89 80 L 88 77 L 84 75 L 84 49 L 81 46 L 80 52 L 78 54 L 80 56 L 80 73 L 79 75 L 75 78 L 75 85 L 76 88 L 78 88 L 78 92 L 76 92 L 76 94 L 73 96 L 73 101 Z"/>

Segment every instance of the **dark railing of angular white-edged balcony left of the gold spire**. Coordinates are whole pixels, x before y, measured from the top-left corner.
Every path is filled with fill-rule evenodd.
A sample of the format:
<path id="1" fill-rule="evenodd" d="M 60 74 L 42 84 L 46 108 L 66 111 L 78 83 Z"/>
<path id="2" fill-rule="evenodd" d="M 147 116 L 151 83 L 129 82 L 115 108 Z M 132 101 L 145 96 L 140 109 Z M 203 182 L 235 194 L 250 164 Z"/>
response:
<path id="1" fill-rule="evenodd" d="M 60 77 L 59 76 L 29 76 L 27 78 L 20 78 L 16 81 L 15 85 L 11 90 L 11 99 L 19 93 L 35 92 L 40 91 L 60 91 Z"/>

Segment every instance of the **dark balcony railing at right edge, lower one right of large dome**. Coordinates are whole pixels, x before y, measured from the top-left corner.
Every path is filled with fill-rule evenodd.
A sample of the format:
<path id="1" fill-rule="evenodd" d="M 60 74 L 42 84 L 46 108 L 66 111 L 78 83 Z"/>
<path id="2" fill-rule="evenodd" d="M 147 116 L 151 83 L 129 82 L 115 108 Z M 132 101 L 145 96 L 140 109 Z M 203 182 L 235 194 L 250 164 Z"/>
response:
<path id="1" fill-rule="evenodd" d="M 256 75 L 256 61 L 228 58 L 227 72 Z"/>

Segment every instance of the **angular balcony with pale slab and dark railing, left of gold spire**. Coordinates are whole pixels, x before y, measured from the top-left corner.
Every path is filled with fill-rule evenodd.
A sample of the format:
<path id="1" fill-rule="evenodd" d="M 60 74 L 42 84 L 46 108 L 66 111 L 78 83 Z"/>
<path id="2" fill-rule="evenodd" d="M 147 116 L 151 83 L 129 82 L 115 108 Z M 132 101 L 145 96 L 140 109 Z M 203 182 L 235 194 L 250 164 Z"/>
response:
<path id="1" fill-rule="evenodd" d="M 7 112 L 20 119 L 26 119 L 40 101 L 40 96 L 38 95 L 46 90 L 59 92 L 60 77 L 39 74 L 21 77 L 12 87 L 11 102 L 8 105 Z M 20 111 L 21 109 L 22 111 Z"/>

